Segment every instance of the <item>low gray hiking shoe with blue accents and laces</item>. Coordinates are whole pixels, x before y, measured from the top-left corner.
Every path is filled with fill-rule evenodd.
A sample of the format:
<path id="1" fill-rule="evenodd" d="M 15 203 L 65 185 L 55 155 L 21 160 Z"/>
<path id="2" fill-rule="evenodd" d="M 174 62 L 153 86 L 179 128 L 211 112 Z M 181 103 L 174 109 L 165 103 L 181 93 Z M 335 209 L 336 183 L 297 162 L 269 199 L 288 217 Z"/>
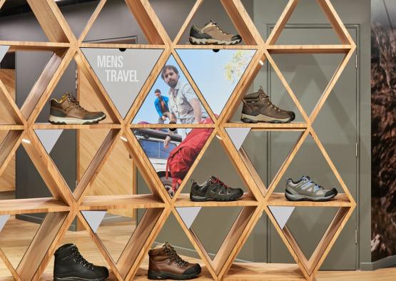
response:
<path id="1" fill-rule="evenodd" d="M 325 189 L 304 175 L 297 182 L 286 179 L 285 197 L 290 201 L 328 201 L 337 195 L 337 190 Z"/>

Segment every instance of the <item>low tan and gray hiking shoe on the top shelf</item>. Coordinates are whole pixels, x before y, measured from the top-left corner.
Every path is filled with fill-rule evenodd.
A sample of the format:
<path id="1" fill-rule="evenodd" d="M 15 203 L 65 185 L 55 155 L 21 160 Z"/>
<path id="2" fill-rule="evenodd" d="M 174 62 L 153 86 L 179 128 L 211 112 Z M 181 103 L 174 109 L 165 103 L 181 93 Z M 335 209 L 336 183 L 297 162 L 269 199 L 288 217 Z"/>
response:
<path id="1" fill-rule="evenodd" d="M 224 32 L 218 24 L 210 20 L 202 29 L 191 26 L 190 43 L 192 45 L 235 45 L 242 41 L 238 34 Z"/>

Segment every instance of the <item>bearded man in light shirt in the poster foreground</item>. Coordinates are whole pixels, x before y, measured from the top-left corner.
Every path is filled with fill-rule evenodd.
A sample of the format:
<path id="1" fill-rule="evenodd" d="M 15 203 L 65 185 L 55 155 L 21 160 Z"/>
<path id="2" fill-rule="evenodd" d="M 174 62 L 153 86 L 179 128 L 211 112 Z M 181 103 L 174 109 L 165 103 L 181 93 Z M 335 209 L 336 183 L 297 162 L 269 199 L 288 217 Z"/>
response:
<path id="1" fill-rule="evenodd" d="M 161 71 L 161 78 L 170 87 L 168 106 L 171 121 L 182 124 L 198 124 L 208 118 L 208 113 L 206 113 L 193 88 L 189 83 L 179 79 L 178 68 L 172 65 L 164 66 Z M 182 137 L 186 137 L 187 133 L 184 130 Z M 165 148 L 168 148 L 170 141 L 171 138 L 167 137 L 164 142 Z"/>

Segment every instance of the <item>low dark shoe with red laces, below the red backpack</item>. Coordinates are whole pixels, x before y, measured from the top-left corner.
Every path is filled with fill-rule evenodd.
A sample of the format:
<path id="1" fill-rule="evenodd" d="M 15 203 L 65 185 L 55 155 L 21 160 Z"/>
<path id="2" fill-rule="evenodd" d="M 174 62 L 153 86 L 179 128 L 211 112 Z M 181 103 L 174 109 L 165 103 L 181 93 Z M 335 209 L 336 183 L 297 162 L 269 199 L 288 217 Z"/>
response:
<path id="1" fill-rule="evenodd" d="M 242 189 L 230 188 L 213 175 L 202 184 L 191 181 L 193 183 L 190 191 L 191 201 L 234 201 L 243 195 Z"/>

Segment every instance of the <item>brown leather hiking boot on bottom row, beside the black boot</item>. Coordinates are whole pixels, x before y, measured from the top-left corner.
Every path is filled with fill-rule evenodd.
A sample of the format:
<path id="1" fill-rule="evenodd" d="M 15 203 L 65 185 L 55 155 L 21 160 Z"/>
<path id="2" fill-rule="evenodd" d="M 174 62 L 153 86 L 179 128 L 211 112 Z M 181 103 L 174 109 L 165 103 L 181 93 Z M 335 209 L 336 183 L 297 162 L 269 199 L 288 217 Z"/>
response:
<path id="1" fill-rule="evenodd" d="M 182 260 L 168 242 L 161 248 L 149 250 L 148 257 L 148 279 L 186 280 L 200 274 L 200 265 Z"/>

